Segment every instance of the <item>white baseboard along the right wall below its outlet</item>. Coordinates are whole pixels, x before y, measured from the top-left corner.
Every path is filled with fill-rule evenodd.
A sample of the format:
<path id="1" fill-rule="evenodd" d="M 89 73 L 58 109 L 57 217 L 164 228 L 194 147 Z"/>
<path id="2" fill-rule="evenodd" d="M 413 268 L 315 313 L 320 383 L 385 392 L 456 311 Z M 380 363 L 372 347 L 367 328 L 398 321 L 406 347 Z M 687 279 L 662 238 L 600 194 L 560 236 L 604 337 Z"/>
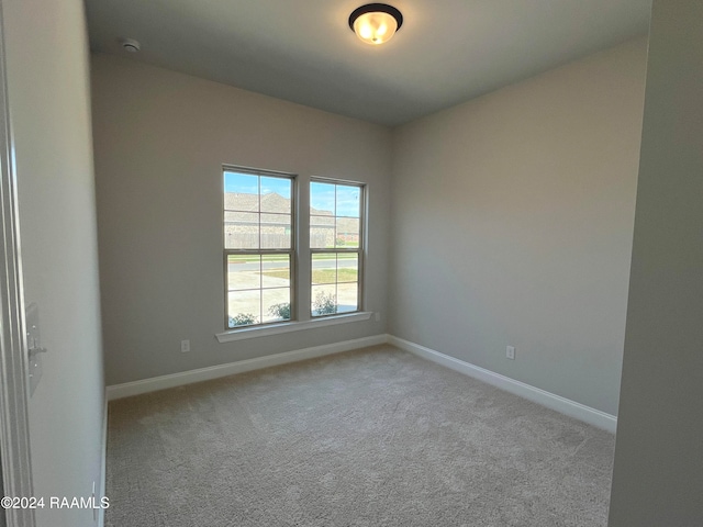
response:
<path id="1" fill-rule="evenodd" d="M 432 362 L 450 368 L 459 373 L 472 377 L 495 388 L 500 388 L 501 390 L 520 395 L 523 399 L 527 399 L 528 401 L 568 415 L 569 417 L 573 417 L 588 423 L 589 425 L 593 425 L 615 434 L 617 417 L 614 415 L 606 414 L 600 410 L 585 406 L 560 395 L 555 395 L 554 393 L 549 393 L 539 388 L 531 386 L 524 382 L 479 368 L 478 366 L 465 362 L 464 360 L 449 357 L 448 355 L 440 354 L 434 349 L 425 348 L 424 346 L 420 346 L 409 340 L 403 340 L 402 338 L 398 338 L 392 335 L 388 336 L 388 343 L 422 357 L 423 359 L 431 360 Z"/>

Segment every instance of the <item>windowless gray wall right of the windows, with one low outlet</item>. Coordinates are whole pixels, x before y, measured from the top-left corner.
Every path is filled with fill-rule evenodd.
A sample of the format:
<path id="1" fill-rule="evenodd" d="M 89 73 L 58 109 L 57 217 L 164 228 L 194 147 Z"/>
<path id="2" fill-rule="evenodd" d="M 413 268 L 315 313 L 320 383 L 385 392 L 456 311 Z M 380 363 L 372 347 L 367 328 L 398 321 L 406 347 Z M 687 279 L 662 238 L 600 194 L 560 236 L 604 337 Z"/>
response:
<path id="1" fill-rule="evenodd" d="M 645 65 L 643 37 L 395 131 L 391 334 L 616 413 Z"/>

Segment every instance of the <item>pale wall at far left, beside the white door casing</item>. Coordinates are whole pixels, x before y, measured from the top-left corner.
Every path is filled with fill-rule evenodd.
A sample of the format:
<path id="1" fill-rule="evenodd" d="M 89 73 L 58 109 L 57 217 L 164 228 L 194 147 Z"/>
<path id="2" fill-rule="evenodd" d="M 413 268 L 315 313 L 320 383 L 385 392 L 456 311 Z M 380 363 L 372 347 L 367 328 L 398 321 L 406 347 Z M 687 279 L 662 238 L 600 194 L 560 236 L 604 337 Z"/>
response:
<path id="1" fill-rule="evenodd" d="M 40 307 L 44 374 L 30 401 L 36 496 L 101 481 L 103 377 L 88 48 L 81 0 L 3 0 L 25 302 Z M 89 509 L 37 525 L 93 524 Z"/>

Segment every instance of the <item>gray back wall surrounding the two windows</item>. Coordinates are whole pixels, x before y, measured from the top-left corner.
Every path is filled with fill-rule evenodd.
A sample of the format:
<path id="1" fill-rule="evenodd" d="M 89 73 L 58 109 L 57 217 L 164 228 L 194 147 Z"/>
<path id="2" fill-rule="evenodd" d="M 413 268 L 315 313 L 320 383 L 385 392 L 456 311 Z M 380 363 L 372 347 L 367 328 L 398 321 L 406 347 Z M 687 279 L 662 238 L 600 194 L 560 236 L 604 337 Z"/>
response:
<path id="1" fill-rule="evenodd" d="M 301 184 L 367 182 L 365 307 L 386 315 L 388 128 L 108 55 L 93 57 L 92 86 L 108 384 L 386 332 L 383 316 L 214 337 L 224 330 L 222 164 L 294 172 Z"/>

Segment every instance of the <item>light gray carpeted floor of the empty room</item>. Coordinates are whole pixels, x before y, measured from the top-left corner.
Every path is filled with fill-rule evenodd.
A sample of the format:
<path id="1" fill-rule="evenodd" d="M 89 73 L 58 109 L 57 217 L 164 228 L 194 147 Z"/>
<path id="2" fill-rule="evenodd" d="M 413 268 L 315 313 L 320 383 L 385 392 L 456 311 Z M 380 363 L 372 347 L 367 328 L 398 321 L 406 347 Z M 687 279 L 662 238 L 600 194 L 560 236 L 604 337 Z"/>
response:
<path id="1" fill-rule="evenodd" d="M 605 526 L 614 444 L 378 346 L 112 402 L 105 519 Z"/>

